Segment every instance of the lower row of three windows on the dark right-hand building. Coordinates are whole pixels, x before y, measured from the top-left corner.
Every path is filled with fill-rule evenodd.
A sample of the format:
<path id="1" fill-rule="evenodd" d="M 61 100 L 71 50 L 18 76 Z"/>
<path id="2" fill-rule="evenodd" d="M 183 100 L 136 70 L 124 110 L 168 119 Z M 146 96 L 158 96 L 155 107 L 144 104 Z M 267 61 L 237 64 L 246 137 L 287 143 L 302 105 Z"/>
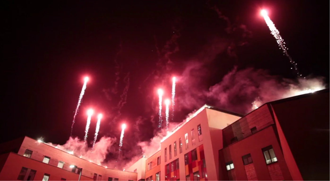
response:
<path id="1" fill-rule="evenodd" d="M 277 162 L 277 158 L 275 156 L 274 149 L 273 149 L 272 145 L 267 146 L 265 148 L 262 148 L 261 150 L 264 154 L 266 164 L 271 164 L 273 162 Z M 242 156 L 242 160 L 243 160 L 244 165 L 248 165 L 248 164 L 253 163 L 250 153 L 247 154 L 247 155 Z M 226 168 L 227 168 L 227 170 L 234 169 L 233 162 L 232 161 L 227 162 L 226 163 Z"/>

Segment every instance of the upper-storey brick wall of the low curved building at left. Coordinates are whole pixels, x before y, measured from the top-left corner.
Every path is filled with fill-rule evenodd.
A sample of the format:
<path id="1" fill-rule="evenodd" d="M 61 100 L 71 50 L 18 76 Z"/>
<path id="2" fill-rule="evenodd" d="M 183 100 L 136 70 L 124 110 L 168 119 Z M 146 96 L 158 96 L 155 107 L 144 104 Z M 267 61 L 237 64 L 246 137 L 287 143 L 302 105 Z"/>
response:
<path id="1" fill-rule="evenodd" d="M 102 181 L 108 181 L 108 177 L 119 178 L 119 181 L 137 180 L 137 173 L 107 169 L 28 137 L 25 137 L 18 154 L 23 155 L 25 149 L 32 150 L 31 159 L 40 162 L 43 161 L 44 156 L 50 157 L 49 165 L 55 167 L 57 167 L 58 161 L 63 161 L 63 169 L 68 171 L 72 170 L 72 168 L 69 168 L 70 165 L 76 165 L 82 168 L 82 175 L 86 177 L 93 178 L 94 173 L 97 173 L 102 175 Z"/>

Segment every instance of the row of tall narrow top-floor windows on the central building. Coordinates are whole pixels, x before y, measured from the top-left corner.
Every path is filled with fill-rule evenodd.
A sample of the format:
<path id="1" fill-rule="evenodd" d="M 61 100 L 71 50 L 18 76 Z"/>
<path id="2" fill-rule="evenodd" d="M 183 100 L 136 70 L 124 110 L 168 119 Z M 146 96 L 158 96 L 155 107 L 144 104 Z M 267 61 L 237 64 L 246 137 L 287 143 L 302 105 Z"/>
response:
<path id="1" fill-rule="evenodd" d="M 201 124 L 197 125 L 197 133 L 198 133 L 198 140 L 201 142 L 203 140 Z M 185 148 L 187 150 L 189 148 L 188 133 L 184 134 L 184 140 L 185 140 Z M 194 129 L 191 130 L 191 144 L 192 145 L 196 144 Z M 177 142 L 176 141 L 174 142 L 173 146 L 174 146 L 174 157 L 176 157 L 177 156 Z M 179 150 L 180 150 L 180 153 L 182 153 L 182 139 L 181 138 L 179 138 Z M 172 159 L 172 145 L 171 144 L 169 146 L 169 157 L 171 160 Z M 165 148 L 165 162 L 167 162 L 167 148 Z"/>

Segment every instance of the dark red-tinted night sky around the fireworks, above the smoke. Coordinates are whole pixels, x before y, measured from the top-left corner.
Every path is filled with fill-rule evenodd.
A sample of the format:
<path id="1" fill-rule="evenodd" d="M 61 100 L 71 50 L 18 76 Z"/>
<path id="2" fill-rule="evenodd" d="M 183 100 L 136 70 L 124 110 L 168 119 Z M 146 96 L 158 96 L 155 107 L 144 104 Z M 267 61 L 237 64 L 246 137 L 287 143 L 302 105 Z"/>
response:
<path id="1" fill-rule="evenodd" d="M 322 3 L 169 0 L 4 4 L 0 140 L 26 135 L 63 144 L 70 136 L 85 75 L 90 82 L 74 136 L 83 138 L 86 110 L 94 108 L 105 115 L 101 136 L 119 138 L 121 123 L 128 123 L 127 152 L 136 142 L 154 135 L 156 89 L 163 87 L 169 93 L 171 76 L 181 76 L 193 62 L 205 67 L 206 71 L 192 72 L 193 77 L 203 78 L 199 86 L 205 90 L 219 83 L 234 66 L 295 79 L 288 59 L 259 15 L 263 7 L 269 10 L 301 73 L 329 78 L 328 6 Z M 214 6 L 229 18 L 230 27 L 210 8 Z M 112 92 L 117 70 L 117 92 Z M 128 78 L 127 100 L 123 99 L 125 103 L 118 110 Z M 178 82 L 178 102 L 187 90 Z M 193 109 L 177 106 L 175 121 L 180 122 L 200 105 L 192 104 Z M 118 111 L 120 116 L 113 120 Z M 96 118 L 90 130 L 95 129 L 95 122 Z"/>

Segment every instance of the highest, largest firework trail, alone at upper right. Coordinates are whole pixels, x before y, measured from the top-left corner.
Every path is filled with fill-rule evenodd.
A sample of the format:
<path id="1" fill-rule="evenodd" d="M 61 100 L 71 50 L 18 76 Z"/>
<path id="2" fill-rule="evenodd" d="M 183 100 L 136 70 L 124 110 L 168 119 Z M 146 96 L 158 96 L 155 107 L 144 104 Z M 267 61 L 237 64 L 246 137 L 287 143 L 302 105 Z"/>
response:
<path id="1" fill-rule="evenodd" d="M 298 76 L 301 76 L 299 74 L 299 70 L 298 70 L 298 67 L 297 67 L 297 63 L 295 63 L 291 56 L 288 54 L 287 52 L 287 48 L 285 47 L 285 42 L 284 42 L 284 39 L 282 39 L 281 35 L 280 35 L 280 32 L 279 30 L 275 27 L 275 24 L 273 23 L 273 21 L 269 18 L 269 16 L 267 15 L 267 11 L 266 10 L 262 10 L 261 11 L 261 15 L 264 17 L 265 21 L 266 21 L 266 24 L 267 26 L 269 27 L 270 31 L 271 31 L 271 34 L 274 36 L 274 38 L 276 39 L 277 41 L 277 44 L 279 45 L 280 49 L 282 49 L 283 51 L 283 54 L 285 56 L 287 56 L 290 60 L 290 63 L 293 65 L 294 69 L 296 70 L 297 72 L 297 75 Z M 292 68 L 291 68 L 292 69 Z"/>

